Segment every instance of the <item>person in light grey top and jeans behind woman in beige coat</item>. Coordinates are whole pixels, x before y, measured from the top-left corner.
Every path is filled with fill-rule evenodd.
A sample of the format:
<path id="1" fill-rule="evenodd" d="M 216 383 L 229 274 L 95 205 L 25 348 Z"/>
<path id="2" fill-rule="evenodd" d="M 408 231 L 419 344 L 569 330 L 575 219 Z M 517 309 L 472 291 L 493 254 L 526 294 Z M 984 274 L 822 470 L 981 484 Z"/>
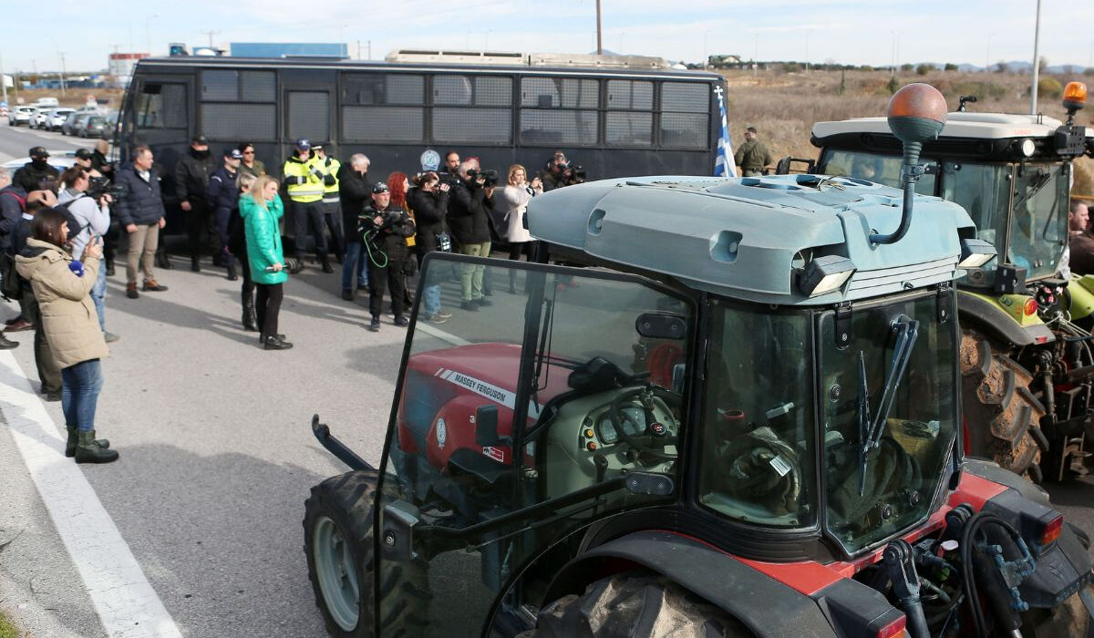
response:
<path id="1" fill-rule="evenodd" d="M 89 193 L 91 177 L 81 166 L 72 166 L 61 174 L 65 188 L 57 196 L 57 205 L 70 213 L 68 241 L 72 245 L 72 258 L 83 258 L 88 243 L 101 237 L 110 228 L 110 204 L 114 198 L 108 193 Z M 74 224 L 74 225 L 73 225 Z M 106 332 L 106 268 L 98 268 L 95 283 L 91 287 L 91 300 L 95 303 L 98 327 L 106 343 L 118 340 L 117 335 Z"/>

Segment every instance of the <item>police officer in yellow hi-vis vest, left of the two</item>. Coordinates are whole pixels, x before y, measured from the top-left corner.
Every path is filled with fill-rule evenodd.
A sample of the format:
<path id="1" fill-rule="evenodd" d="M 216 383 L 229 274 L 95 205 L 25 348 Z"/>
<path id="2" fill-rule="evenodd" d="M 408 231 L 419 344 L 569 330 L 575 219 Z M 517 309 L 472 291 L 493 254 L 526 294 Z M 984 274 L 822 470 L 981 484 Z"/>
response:
<path id="1" fill-rule="evenodd" d="M 334 272 L 327 259 L 327 236 L 323 230 L 323 194 L 326 193 L 327 181 L 334 179 L 324 175 L 312 155 L 312 142 L 305 138 L 296 140 L 295 153 L 284 161 L 281 174 L 284 175 L 286 188 L 289 192 L 290 210 L 296 236 L 294 252 L 296 259 L 303 264 L 304 248 L 307 246 L 307 227 L 312 227 L 315 235 L 315 255 L 323 266 L 324 272 Z M 335 179 L 337 184 L 337 179 Z"/>

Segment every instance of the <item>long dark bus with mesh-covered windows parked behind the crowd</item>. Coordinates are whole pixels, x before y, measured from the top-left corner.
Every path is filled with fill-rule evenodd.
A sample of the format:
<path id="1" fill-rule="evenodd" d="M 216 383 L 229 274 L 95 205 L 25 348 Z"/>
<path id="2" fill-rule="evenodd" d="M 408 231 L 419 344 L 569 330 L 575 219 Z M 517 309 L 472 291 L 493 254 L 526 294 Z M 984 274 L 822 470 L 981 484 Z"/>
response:
<path id="1" fill-rule="evenodd" d="M 123 161 L 148 144 L 173 193 L 175 161 L 205 135 L 218 156 L 251 142 L 279 175 L 293 141 L 327 141 L 370 173 L 418 172 L 427 149 L 529 174 L 556 150 L 590 179 L 710 175 L 721 76 L 660 58 L 396 51 L 386 61 L 170 57 L 138 62 L 123 102 Z"/>

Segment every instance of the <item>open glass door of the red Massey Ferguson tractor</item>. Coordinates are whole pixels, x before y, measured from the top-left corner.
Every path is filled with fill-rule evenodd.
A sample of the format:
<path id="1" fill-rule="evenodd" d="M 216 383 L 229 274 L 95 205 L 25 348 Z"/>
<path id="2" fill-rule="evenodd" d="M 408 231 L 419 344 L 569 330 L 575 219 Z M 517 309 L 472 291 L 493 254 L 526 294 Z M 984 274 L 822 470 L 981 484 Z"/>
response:
<path id="1" fill-rule="evenodd" d="M 479 280 L 492 294 L 462 309 Z M 443 253 L 419 291 L 382 464 L 376 617 L 381 636 L 475 636 L 534 618 L 522 570 L 547 547 L 677 497 L 695 306 L 640 277 Z"/>

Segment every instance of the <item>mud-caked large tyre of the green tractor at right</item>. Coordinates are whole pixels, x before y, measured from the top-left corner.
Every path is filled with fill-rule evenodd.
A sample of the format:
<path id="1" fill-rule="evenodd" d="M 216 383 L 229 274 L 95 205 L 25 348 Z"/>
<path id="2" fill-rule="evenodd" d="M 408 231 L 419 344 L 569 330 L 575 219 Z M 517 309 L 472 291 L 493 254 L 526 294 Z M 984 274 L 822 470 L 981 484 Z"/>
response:
<path id="1" fill-rule="evenodd" d="M 991 459 L 1040 483 L 1045 406 L 1029 392 L 1033 375 L 976 330 L 961 340 L 962 404 L 973 456 Z"/>

